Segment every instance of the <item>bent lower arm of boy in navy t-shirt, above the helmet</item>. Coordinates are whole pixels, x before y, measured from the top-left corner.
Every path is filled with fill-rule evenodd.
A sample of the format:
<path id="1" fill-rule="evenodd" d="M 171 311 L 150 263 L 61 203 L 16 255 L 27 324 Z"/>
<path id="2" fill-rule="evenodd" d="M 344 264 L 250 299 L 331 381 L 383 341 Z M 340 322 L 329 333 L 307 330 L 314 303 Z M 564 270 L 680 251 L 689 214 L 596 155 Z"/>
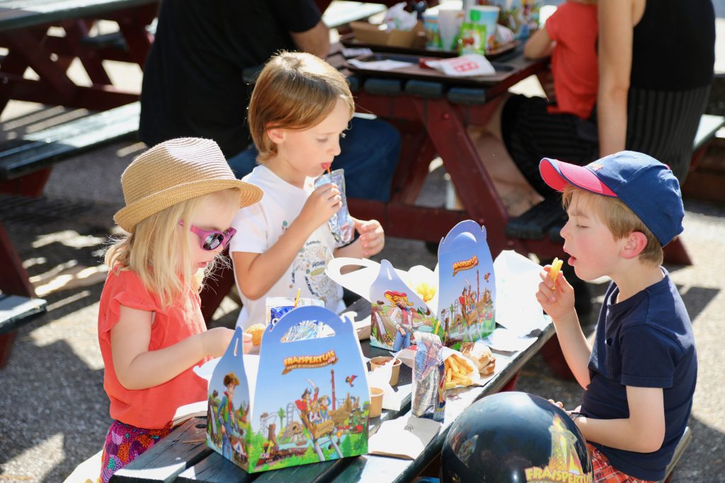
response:
<path id="1" fill-rule="evenodd" d="M 576 426 L 587 441 L 620 450 L 651 453 L 665 439 L 665 406 L 660 387 L 626 387 L 628 419 L 577 418 Z"/>

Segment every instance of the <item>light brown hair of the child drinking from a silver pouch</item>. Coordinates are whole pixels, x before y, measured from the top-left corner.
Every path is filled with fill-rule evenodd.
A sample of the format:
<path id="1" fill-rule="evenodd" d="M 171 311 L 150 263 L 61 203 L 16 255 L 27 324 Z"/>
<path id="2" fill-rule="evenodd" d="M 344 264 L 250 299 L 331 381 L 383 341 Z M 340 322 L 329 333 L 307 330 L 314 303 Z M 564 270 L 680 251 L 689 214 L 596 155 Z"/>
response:
<path id="1" fill-rule="evenodd" d="M 309 129 L 332 112 L 338 99 L 347 104 L 352 118 L 355 101 L 347 80 L 323 59 L 303 52 L 273 56 L 257 78 L 249 101 L 249 131 L 260 153 L 257 160 L 277 154 L 268 130 Z"/>

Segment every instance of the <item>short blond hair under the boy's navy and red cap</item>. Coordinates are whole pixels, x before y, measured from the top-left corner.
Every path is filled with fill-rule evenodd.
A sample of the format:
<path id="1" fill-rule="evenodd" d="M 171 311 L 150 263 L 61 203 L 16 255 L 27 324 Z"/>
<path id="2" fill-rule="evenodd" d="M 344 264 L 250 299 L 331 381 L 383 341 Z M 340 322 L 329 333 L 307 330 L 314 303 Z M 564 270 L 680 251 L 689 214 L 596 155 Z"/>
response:
<path id="1" fill-rule="evenodd" d="M 564 209 L 568 209 L 574 193 L 579 193 L 579 199 L 592 208 L 597 219 L 608 227 L 615 240 L 626 238 L 631 232 L 642 232 L 647 238 L 647 245 L 645 245 L 642 253 L 639 253 L 639 260 L 657 266 L 662 264 L 663 251 L 660 241 L 642 223 L 642 220 L 634 214 L 634 211 L 629 209 L 629 206 L 626 206 L 619 198 L 602 196 L 567 185 L 562 193 Z"/>

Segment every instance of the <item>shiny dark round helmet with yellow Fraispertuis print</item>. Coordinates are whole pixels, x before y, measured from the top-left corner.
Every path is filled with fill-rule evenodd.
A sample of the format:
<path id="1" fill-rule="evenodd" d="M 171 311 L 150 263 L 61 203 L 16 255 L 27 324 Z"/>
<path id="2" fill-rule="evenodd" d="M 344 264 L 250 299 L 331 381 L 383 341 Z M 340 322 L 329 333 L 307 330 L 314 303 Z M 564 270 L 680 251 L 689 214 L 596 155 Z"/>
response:
<path id="1" fill-rule="evenodd" d="M 473 403 L 452 424 L 441 481 L 590 483 L 592 460 L 563 409 L 526 392 L 500 392 Z"/>

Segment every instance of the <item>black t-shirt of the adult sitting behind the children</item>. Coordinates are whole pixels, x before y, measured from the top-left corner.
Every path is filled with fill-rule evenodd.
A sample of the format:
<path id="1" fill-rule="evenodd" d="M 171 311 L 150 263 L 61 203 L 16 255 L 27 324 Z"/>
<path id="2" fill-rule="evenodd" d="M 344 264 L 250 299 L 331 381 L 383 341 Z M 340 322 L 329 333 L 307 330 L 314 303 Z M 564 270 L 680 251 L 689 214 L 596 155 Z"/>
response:
<path id="1" fill-rule="evenodd" d="M 144 67 L 141 140 L 193 136 L 215 140 L 228 157 L 242 151 L 251 94 L 242 72 L 294 50 L 289 33 L 320 17 L 313 0 L 163 0 Z"/>

